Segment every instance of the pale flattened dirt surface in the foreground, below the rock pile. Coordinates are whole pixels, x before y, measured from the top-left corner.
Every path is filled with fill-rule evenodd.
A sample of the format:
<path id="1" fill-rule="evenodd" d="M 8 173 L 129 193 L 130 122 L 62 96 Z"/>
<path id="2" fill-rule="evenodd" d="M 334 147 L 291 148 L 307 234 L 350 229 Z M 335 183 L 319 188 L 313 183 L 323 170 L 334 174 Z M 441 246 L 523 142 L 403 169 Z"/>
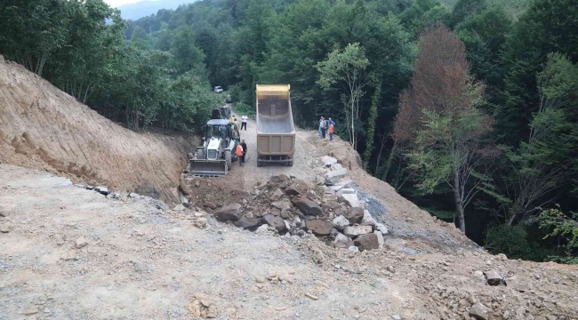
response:
<path id="1" fill-rule="evenodd" d="M 197 293 L 219 319 L 435 318 L 410 290 L 357 273 L 347 253 L 317 265 L 305 243 L 198 229 L 148 199 L 108 199 L 45 172 L 0 164 L 0 212 L 3 320 L 189 319 Z M 267 280 L 275 273 L 283 280 Z"/>

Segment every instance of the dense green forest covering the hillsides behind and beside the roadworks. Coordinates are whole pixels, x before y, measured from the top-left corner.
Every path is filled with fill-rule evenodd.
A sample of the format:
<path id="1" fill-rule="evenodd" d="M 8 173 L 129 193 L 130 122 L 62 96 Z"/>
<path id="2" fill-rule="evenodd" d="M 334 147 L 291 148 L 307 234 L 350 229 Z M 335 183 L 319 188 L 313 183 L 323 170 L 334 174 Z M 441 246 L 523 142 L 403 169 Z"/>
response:
<path id="1" fill-rule="evenodd" d="M 7 0 L 0 54 L 132 130 L 194 133 L 255 84 L 331 116 L 365 170 L 510 259 L 578 263 L 574 0 L 204 0 L 136 21 Z"/>

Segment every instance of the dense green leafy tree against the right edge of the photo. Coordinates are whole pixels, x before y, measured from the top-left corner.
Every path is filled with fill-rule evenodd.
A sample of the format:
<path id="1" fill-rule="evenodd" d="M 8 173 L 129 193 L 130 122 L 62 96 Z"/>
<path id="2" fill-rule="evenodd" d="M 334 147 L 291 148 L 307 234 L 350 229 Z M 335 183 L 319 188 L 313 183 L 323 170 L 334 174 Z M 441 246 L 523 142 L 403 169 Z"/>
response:
<path id="1" fill-rule="evenodd" d="M 530 134 L 519 148 L 502 147 L 510 161 L 513 203 L 509 225 L 526 220 L 550 204 L 553 191 L 566 188 L 576 177 L 578 127 L 572 122 L 578 91 L 578 66 L 560 53 L 550 53 L 537 76 L 540 108 L 530 122 Z"/>

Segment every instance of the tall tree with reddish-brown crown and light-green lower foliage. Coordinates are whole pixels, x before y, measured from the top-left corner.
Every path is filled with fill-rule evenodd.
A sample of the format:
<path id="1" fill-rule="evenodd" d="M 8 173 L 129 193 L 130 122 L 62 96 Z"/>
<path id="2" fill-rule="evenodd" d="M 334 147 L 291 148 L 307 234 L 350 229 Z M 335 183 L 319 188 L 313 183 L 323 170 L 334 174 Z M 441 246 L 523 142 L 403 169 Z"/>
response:
<path id="1" fill-rule="evenodd" d="M 465 47 L 446 26 L 426 28 L 418 47 L 394 137 L 410 145 L 407 156 L 418 188 L 432 193 L 444 183 L 453 190 L 458 226 L 465 232 L 464 209 L 486 180 L 477 172 L 481 140 L 491 128 L 489 116 L 477 108 L 484 85 L 468 74 Z"/>

